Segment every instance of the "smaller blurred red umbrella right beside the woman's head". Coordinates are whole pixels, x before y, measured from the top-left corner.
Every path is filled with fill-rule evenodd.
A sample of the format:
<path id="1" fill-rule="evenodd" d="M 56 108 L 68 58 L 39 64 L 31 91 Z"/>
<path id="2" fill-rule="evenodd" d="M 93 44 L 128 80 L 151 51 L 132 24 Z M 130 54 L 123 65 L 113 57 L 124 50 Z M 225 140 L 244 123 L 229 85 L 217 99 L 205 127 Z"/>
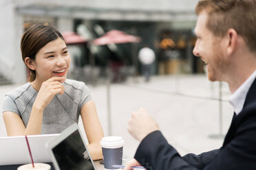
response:
<path id="1" fill-rule="evenodd" d="M 87 42 L 85 38 L 83 38 L 82 36 L 79 36 L 74 32 L 63 32 L 62 36 L 67 45 L 83 44 Z"/>

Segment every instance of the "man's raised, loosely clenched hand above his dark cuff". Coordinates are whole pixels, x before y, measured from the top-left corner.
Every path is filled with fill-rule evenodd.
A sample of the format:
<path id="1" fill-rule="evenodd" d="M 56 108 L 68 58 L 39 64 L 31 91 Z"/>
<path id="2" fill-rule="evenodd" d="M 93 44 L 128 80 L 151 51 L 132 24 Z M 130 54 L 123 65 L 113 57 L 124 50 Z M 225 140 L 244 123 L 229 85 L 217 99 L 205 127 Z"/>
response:
<path id="1" fill-rule="evenodd" d="M 128 121 L 127 130 L 138 141 L 142 141 L 148 134 L 159 130 L 158 124 L 154 121 L 146 110 L 140 109 L 131 113 Z"/>

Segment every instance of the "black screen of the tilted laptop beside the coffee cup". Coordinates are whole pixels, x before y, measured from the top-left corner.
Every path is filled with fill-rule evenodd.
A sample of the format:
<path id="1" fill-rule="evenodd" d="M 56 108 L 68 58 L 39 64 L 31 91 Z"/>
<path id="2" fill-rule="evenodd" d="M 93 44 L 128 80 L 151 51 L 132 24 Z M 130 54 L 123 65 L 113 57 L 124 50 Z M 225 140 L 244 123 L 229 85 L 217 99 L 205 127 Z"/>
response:
<path id="1" fill-rule="evenodd" d="M 53 147 L 52 152 L 61 170 L 94 170 L 78 130 Z"/>

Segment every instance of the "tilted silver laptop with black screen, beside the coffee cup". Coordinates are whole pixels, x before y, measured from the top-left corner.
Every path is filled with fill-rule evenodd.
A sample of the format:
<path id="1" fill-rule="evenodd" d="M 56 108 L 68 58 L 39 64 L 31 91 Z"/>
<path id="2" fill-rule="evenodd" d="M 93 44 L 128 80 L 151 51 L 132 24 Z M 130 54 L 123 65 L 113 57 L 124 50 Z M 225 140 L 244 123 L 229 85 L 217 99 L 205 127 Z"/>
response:
<path id="1" fill-rule="evenodd" d="M 46 143 L 55 170 L 96 170 L 86 143 L 74 123 Z"/>

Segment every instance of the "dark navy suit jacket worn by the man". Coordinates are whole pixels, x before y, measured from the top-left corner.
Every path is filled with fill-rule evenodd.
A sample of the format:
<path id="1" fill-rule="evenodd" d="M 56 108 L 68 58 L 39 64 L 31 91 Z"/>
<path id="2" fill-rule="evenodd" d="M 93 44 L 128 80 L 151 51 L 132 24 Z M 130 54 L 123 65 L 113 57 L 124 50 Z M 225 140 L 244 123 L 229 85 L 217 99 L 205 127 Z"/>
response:
<path id="1" fill-rule="evenodd" d="M 242 112 L 234 114 L 220 149 L 181 157 L 160 131 L 151 132 L 134 156 L 148 170 L 256 169 L 256 80 L 248 90 Z"/>

